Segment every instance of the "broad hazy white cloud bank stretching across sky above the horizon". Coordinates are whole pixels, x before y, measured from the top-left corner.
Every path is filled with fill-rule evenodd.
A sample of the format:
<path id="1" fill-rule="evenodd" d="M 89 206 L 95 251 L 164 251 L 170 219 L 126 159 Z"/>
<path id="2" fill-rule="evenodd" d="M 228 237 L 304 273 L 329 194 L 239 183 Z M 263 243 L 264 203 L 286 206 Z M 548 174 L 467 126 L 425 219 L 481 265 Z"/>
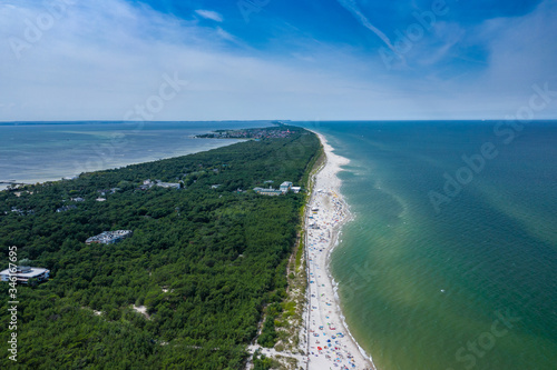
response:
<path id="1" fill-rule="evenodd" d="M 26 20 L 37 23 L 45 11 L 19 1 L 0 7 L 0 40 L 25 41 Z M 491 51 L 489 66 L 449 80 L 420 69 L 390 73 L 346 46 L 267 53 L 222 28 L 123 0 L 76 2 L 21 59 L 0 42 L 0 120 L 121 120 L 159 92 L 164 73 L 190 83 L 155 120 L 499 118 L 528 102 L 531 83 L 557 77 L 555 14 L 541 7 L 466 30 Z M 443 41 L 444 59 L 455 42 Z M 544 114 L 556 112 L 553 104 Z"/>

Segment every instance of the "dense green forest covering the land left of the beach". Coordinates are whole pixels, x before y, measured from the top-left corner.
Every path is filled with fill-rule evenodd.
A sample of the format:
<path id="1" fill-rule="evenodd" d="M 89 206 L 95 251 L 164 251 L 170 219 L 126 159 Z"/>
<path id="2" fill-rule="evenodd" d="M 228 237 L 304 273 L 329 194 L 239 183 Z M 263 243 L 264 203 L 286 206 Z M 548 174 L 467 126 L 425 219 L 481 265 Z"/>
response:
<path id="1" fill-rule="evenodd" d="M 286 138 L 0 192 L 0 268 L 17 246 L 20 264 L 51 271 L 46 283 L 18 287 L 18 362 L 2 349 L 0 368 L 241 369 L 263 308 L 285 296 L 305 197 L 251 189 L 303 186 L 320 149 L 313 133 L 287 129 Z M 139 189 L 146 179 L 183 186 Z M 119 229 L 134 234 L 85 243 Z M 8 288 L 0 283 L 2 343 Z"/>

